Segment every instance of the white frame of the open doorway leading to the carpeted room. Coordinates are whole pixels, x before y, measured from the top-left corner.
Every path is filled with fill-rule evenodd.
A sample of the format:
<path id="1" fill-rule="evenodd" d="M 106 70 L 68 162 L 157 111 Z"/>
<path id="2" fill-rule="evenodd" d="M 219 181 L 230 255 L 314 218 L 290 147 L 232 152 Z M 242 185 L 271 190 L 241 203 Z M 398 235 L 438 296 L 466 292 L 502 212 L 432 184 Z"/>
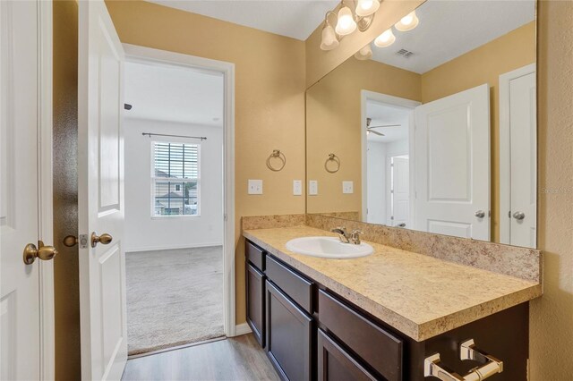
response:
<path id="1" fill-rule="evenodd" d="M 235 63 L 183 55 L 150 47 L 123 44 L 127 62 L 172 65 L 208 72 L 220 72 L 225 80 L 225 123 L 223 127 L 223 274 L 227 336 L 235 336 Z"/>

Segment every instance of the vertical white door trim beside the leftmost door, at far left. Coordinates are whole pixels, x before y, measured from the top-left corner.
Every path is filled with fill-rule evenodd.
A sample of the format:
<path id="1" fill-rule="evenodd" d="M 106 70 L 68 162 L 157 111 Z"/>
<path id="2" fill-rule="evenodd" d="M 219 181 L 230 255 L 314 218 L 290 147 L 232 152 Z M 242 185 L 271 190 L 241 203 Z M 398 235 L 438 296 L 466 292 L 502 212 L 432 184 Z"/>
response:
<path id="1" fill-rule="evenodd" d="M 54 240 L 52 184 L 52 2 L 38 0 L 38 233 Z M 61 242 L 53 242 L 56 247 Z M 49 243 L 48 243 L 49 244 Z M 39 262 L 40 379 L 56 377 L 56 319 L 54 315 L 54 261 Z"/>

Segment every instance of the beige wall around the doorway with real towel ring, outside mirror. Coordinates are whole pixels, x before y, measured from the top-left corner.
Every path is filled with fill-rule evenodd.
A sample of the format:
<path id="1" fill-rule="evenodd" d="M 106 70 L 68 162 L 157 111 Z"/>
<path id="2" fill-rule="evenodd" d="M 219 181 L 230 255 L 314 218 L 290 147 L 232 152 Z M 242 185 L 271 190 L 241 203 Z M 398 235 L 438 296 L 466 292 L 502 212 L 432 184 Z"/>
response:
<path id="1" fill-rule="evenodd" d="M 304 42 L 141 1 L 107 1 L 124 43 L 235 63 L 236 322 L 245 321 L 241 216 L 304 213 Z M 281 172 L 265 160 L 286 155 Z M 262 179 L 264 194 L 247 195 Z"/>

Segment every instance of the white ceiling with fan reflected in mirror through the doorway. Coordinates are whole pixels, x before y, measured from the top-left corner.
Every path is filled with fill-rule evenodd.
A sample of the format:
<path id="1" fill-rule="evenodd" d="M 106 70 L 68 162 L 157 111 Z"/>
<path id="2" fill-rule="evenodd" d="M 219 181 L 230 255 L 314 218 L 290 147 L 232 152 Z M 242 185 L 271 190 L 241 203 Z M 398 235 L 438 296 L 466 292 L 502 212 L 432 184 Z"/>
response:
<path id="1" fill-rule="evenodd" d="M 369 100 L 366 103 L 366 116 L 372 118 L 371 126 L 399 124 L 399 127 L 377 128 L 375 131 L 381 132 L 385 136 L 370 133 L 367 139 L 381 143 L 408 139 L 408 123 L 411 112 L 412 110 L 404 107 L 390 106 Z"/>

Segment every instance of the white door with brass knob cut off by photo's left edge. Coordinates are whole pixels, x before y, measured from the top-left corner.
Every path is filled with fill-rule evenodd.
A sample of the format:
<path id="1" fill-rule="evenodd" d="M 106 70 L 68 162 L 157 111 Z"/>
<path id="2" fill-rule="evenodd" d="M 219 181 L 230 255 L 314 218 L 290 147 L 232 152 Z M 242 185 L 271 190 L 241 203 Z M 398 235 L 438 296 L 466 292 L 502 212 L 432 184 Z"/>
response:
<path id="1" fill-rule="evenodd" d="M 0 2 L 0 379 L 37 380 L 40 352 L 38 248 L 38 2 Z M 30 247 L 30 249 L 33 249 Z M 54 250 L 44 248 L 47 260 Z M 43 266 L 46 265 L 47 262 Z M 48 265 L 49 266 L 49 265 Z M 46 274 L 46 273 L 44 273 Z M 43 286 L 52 287 L 51 284 Z M 51 290 L 45 290 L 51 292 Z M 49 319 L 51 323 L 51 318 Z M 47 328 L 45 326 L 44 328 Z M 46 358 L 46 360 L 48 360 Z M 49 366 L 49 365 L 48 365 Z"/>

